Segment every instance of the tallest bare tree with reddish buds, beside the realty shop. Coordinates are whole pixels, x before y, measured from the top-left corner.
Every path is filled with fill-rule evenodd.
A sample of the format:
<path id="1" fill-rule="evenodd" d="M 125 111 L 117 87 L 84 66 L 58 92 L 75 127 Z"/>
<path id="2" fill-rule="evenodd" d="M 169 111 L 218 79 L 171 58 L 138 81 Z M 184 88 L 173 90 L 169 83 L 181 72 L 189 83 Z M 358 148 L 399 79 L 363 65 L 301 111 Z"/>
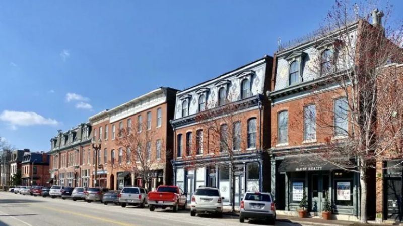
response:
<path id="1" fill-rule="evenodd" d="M 401 25 L 385 26 L 390 8 L 382 13 L 368 6 L 337 1 L 318 32 L 318 58 L 307 65 L 320 80 L 308 98 L 317 110 L 305 118 L 313 119 L 326 139 L 321 152 L 304 150 L 360 174 L 362 222 L 367 222 L 369 171 L 377 160 L 403 154 L 402 75 L 385 68 L 403 62 L 403 30 Z M 386 155 L 390 150 L 393 156 Z"/>

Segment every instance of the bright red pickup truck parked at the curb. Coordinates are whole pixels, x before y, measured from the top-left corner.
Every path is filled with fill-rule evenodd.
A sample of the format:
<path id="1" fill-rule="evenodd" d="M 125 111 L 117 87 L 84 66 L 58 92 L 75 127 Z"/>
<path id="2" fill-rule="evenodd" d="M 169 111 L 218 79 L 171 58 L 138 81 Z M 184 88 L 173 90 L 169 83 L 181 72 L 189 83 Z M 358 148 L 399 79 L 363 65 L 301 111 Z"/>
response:
<path id="1" fill-rule="evenodd" d="M 186 209 L 186 200 L 186 193 L 183 193 L 180 187 L 161 185 L 157 188 L 157 191 L 148 193 L 147 202 L 150 211 L 154 211 L 155 208 L 165 209 L 169 207 L 174 212 L 177 212 L 179 207 Z"/>

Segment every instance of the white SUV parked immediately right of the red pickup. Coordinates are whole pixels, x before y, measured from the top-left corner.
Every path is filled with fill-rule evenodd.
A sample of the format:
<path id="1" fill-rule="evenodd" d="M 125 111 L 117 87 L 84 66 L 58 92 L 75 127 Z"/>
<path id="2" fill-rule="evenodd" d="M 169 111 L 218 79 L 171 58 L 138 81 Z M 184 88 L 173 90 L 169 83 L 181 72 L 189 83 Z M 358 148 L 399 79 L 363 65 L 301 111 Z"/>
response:
<path id="1" fill-rule="evenodd" d="M 220 190 L 212 187 L 199 187 L 194 191 L 190 205 L 190 215 L 196 213 L 214 213 L 219 217 L 223 213 L 223 199 Z"/>

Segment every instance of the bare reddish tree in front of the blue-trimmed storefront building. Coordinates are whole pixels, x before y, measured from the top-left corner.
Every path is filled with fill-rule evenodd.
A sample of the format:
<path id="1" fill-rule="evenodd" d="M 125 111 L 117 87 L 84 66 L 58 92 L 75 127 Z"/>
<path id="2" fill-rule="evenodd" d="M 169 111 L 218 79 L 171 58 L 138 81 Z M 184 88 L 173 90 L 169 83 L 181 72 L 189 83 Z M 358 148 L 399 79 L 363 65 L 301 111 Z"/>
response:
<path id="1" fill-rule="evenodd" d="M 187 168 L 205 166 L 208 168 L 218 166 L 220 169 L 228 170 L 231 179 L 230 197 L 232 211 L 235 211 L 235 181 L 239 168 L 236 167 L 239 155 L 247 152 L 248 142 L 250 147 L 257 148 L 257 123 L 255 121 L 255 133 L 248 136 L 246 124 L 248 121 L 244 110 L 249 106 L 247 103 L 233 102 L 230 95 L 218 106 L 213 102 L 206 106 L 206 109 L 196 116 L 196 123 L 199 125 L 195 139 L 187 138 L 192 136 L 186 134 L 186 146 L 184 148 L 184 159 Z M 199 131 L 202 134 L 199 134 Z M 255 153 L 253 153 L 255 154 Z M 253 155 L 250 158 L 256 158 Z M 243 158 L 245 160 L 245 158 Z"/>

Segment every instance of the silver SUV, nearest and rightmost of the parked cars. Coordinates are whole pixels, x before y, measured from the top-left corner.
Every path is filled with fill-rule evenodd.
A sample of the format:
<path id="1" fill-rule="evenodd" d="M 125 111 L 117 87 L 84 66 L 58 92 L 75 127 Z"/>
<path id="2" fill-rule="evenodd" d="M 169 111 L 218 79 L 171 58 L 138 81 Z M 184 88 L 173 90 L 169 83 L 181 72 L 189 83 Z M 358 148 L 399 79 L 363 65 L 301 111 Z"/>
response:
<path id="1" fill-rule="evenodd" d="M 276 207 L 270 193 L 246 192 L 241 201 L 239 222 L 245 219 L 264 219 L 269 224 L 276 221 Z"/>

